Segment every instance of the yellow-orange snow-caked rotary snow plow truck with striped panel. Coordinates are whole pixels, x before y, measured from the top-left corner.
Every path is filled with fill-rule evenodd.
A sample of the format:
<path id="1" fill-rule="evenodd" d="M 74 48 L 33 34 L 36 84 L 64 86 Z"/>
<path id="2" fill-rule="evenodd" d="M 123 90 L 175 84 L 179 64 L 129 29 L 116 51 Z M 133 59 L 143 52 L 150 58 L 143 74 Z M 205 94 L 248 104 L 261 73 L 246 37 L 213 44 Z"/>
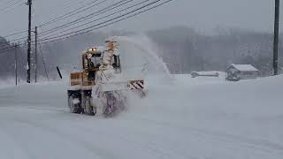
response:
<path id="1" fill-rule="evenodd" d="M 82 70 L 70 74 L 68 106 L 72 113 L 112 117 L 126 107 L 126 92 L 144 95 L 143 70 L 129 77 L 122 72 L 118 42 L 92 47 L 81 55 Z"/>

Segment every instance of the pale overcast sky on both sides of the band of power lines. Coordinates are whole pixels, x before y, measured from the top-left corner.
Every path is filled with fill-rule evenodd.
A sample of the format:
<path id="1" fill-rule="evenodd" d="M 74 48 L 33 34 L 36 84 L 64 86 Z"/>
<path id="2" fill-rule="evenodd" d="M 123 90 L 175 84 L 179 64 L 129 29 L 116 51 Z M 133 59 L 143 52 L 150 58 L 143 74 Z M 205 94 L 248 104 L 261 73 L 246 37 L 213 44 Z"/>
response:
<path id="1" fill-rule="evenodd" d="M 9 0 L 0 0 L 0 8 Z M 25 2 L 26 0 L 23 0 Z M 66 12 L 65 4 L 74 0 L 34 0 L 35 19 L 41 23 Z M 80 7 L 83 2 L 73 6 Z M 109 0 L 111 3 L 117 0 Z M 142 0 L 135 0 L 141 2 Z M 281 4 L 281 6 L 283 3 Z M 280 7 L 283 9 L 282 7 Z M 71 11 L 71 9 L 67 9 Z M 283 13 L 283 10 L 281 11 Z M 172 26 L 194 27 L 203 34 L 211 34 L 216 27 L 241 27 L 255 31 L 272 32 L 274 0 L 173 0 L 134 19 L 108 27 L 143 31 Z M 280 24 L 283 22 L 283 14 Z M 76 17 L 73 17 L 75 19 Z M 36 24 L 34 23 L 33 26 Z M 0 14 L 0 35 L 27 28 L 27 5 L 3 15 Z M 282 25 L 280 28 L 283 29 Z"/>

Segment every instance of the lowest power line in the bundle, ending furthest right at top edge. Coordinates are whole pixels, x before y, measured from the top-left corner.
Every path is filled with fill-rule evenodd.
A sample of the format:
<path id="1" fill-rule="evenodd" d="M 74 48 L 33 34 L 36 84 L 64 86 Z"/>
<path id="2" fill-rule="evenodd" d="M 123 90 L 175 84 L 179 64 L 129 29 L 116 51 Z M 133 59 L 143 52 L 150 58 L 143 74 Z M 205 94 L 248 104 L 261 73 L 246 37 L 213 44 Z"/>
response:
<path id="1" fill-rule="evenodd" d="M 159 1 L 160 1 L 160 0 L 158 0 L 158 1 L 154 2 L 154 3 L 157 3 L 157 2 L 159 2 Z M 43 41 L 42 43 L 57 42 L 57 41 L 60 41 L 60 40 L 65 40 L 65 39 L 71 38 L 71 37 L 73 37 L 73 36 L 78 36 L 78 35 L 80 35 L 80 34 L 86 34 L 86 33 L 88 33 L 88 32 L 91 32 L 91 31 L 93 31 L 93 30 L 96 30 L 96 29 L 100 29 L 100 28 L 103 28 L 103 27 L 111 26 L 112 24 L 118 23 L 118 22 L 123 21 L 123 20 L 126 20 L 126 19 L 131 19 L 131 18 L 133 18 L 133 17 L 135 17 L 135 16 L 137 16 L 137 15 L 139 15 L 139 14 L 142 14 L 142 13 L 144 13 L 144 12 L 146 12 L 146 11 L 153 10 L 153 9 L 155 9 L 155 8 L 161 6 L 161 5 L 168 4 L 169 2 L 172 2 L 172 1 L 173 1 L 173 0 L 167 0 L 167 1 L 163 2 L 163 3 L 161 3 L 161 4 L 157 4 L 157 5 L 155 5 L 155 6 L 149 7 L 149 8 L 146 9 L 146 10 L 136 12 L 136 13 L 134 13 L 134 14 L 132 14 L 132 15 L 129 15 L 129 16 L 127 16 L 127 17 L 124 17 L 123 19 L 115 20 L 115 21 L 113 21 L 113 22 L 111 22 L 111 23 L 108 23 L 108 24 L 105 24 L 105 25 L 103 25 L 103 26 L 101 26 L 101 27 L 94 27 L 94 26 L 93 26 L 94 28 L 91 28 L 91 29 L 89 29 L 89 30 L 87 30 L 87 31 L 85 31 L 85 32 L 79 33 L 81 30 L 85 30 L 86 28 L 85 28 L 85 29 L 81 29 L 81 30 L 79 30 L 79 31 L 77 31 L 77 32 L 70 33 L 70 34 L 72 34 L 72 35 L 69 35 L 69 36 L 66 36 L 66 37 L 61 37 L 62 35 L 60 35 L 60 36 L 53 37 L 53 38 L 49 38 L 49 39 L 43 39 L 43 40 L 42 40 L 42 41 Z M 129 13 L 127 13 L 127 14 L 129 14 Z M 108 21 L 110 21 L 110 20 L 108 20 Z M 97 25 L 96 25 L 96 26 L 97 26 Z M 64 35 L 63 35 L 63 36 L 64 36 Z M 58 38 L 58 37 L 61 37 L 61 38 Z M 57 39 L 56 39 L 56 38 L 57 38 Z M 54 40 L 51 40 L 51 39 L 54 39 Z M 49 41 L 49 40 L 50 40 L 50 41 Z M 44 41 L 46 41 L 46 42 L 44 42 Z"/>

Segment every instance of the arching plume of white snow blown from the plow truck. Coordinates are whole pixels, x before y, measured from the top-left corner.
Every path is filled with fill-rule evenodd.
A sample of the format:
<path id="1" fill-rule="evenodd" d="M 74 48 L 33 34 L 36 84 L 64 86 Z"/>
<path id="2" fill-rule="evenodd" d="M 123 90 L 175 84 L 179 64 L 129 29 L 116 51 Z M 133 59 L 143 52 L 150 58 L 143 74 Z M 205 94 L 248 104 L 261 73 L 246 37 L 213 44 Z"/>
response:
<path id="1" fill-rule="evenodd" d="M 157 47 L 144 34 L 132 36 L 115 36 L 112 39 L 119 42 L 119 51 L 123 61 L 123 70 L 145 68 L 146 75 L 155 75 L 163 78 L 162 81 L 172 79 L 166 64 L 157 55 Z"/>

